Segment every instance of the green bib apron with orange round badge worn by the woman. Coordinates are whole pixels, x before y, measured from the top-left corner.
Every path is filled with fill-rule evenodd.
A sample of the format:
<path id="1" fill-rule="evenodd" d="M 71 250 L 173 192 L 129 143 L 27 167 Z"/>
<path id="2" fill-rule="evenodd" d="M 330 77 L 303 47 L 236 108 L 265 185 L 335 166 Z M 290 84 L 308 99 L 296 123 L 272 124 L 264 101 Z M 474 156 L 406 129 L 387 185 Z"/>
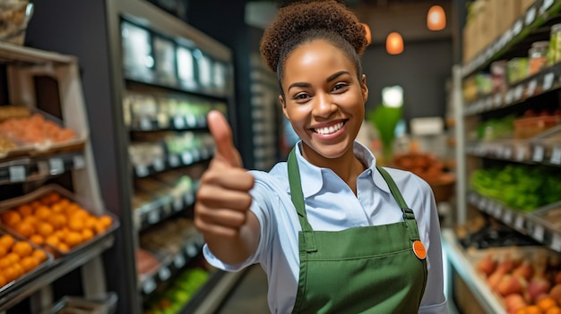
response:
<path id="1" fill-rule="evenodd" d="M 427 284 L 427 260 L 412 249 L 414 242 L 420 244 L 417 221 L 390 175 L 377 167 L 403 222 L 314 231 L 306 218 L 294 149 L 288 167 L 290 195 L 302 227 L 293 313 L 417 313 Z"/>

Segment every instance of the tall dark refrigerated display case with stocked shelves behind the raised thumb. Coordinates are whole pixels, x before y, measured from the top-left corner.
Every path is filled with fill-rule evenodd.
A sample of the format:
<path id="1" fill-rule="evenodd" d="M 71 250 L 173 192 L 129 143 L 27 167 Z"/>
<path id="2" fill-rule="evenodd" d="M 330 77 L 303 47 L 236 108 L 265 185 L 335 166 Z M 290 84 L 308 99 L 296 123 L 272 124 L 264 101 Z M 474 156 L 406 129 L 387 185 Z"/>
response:
<path id="1" fill-rule="evenodd" d="M 232 52 L 143 0 L 36 4 L 26 43 L 80 60 L 100 194 L 120 222 L 104 255 L 117 312 L 219 307 L 244 272 L 204 262 L 192 218 L 214 152 L 206 113 L 236 130 Z"/>

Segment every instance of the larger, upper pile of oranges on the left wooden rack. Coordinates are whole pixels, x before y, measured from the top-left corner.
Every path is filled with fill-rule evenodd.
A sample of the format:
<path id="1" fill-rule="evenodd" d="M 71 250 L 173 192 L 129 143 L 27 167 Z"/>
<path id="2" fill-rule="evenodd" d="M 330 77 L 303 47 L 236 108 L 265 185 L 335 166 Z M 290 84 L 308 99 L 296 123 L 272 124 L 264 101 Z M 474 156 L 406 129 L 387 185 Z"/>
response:
<path id="1" fill-rule="evenodd" d="M 30 242 L 62 253 L 104 233 L 113 225 L 110 216 L 92 215 L 56 191 L 28 204 L 4 210 L 0 213 L 0 221 Z M 52 252 L 56 253 L 56 250 Z"/>

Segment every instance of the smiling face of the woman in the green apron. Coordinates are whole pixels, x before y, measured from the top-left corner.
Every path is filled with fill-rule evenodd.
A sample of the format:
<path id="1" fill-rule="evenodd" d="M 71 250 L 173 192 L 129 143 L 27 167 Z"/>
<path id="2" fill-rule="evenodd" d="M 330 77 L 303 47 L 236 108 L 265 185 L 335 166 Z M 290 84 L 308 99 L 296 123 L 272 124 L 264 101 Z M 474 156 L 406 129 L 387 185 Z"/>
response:
<path id="1" fill-rule="evenodd" d="M 285 61 L 281 84 L 282 110 L 308 161 L 329 166 L 333 158 L 354 155 L 368 89 L 366 77 L 358 81 L 355 64 L 340 48 L 321 39 L 297 47 Z"/>

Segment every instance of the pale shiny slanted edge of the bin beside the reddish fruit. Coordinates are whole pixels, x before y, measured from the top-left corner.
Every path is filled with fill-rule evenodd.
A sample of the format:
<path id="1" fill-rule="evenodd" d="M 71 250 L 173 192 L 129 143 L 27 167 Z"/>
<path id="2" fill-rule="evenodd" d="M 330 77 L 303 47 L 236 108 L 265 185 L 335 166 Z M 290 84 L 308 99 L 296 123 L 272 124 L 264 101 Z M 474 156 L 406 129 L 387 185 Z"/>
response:
<path id="1" fill-rule="evenodd" d="M 446 252 L 448 261 L 452 264 L 454 270 L 462 277 L 462 280 L 470 288 L 475 298 L 479 301 L 479 305 L 486 313 L 489 314 L 506 314 L 505 308 L 500 304 L 495 295 L 490 291 L 481 276 L 477 274 L 471 265 L 465 251 L 458 244 L 456 236 L 451 229 L 442 230 L 442 246 Z"/>

